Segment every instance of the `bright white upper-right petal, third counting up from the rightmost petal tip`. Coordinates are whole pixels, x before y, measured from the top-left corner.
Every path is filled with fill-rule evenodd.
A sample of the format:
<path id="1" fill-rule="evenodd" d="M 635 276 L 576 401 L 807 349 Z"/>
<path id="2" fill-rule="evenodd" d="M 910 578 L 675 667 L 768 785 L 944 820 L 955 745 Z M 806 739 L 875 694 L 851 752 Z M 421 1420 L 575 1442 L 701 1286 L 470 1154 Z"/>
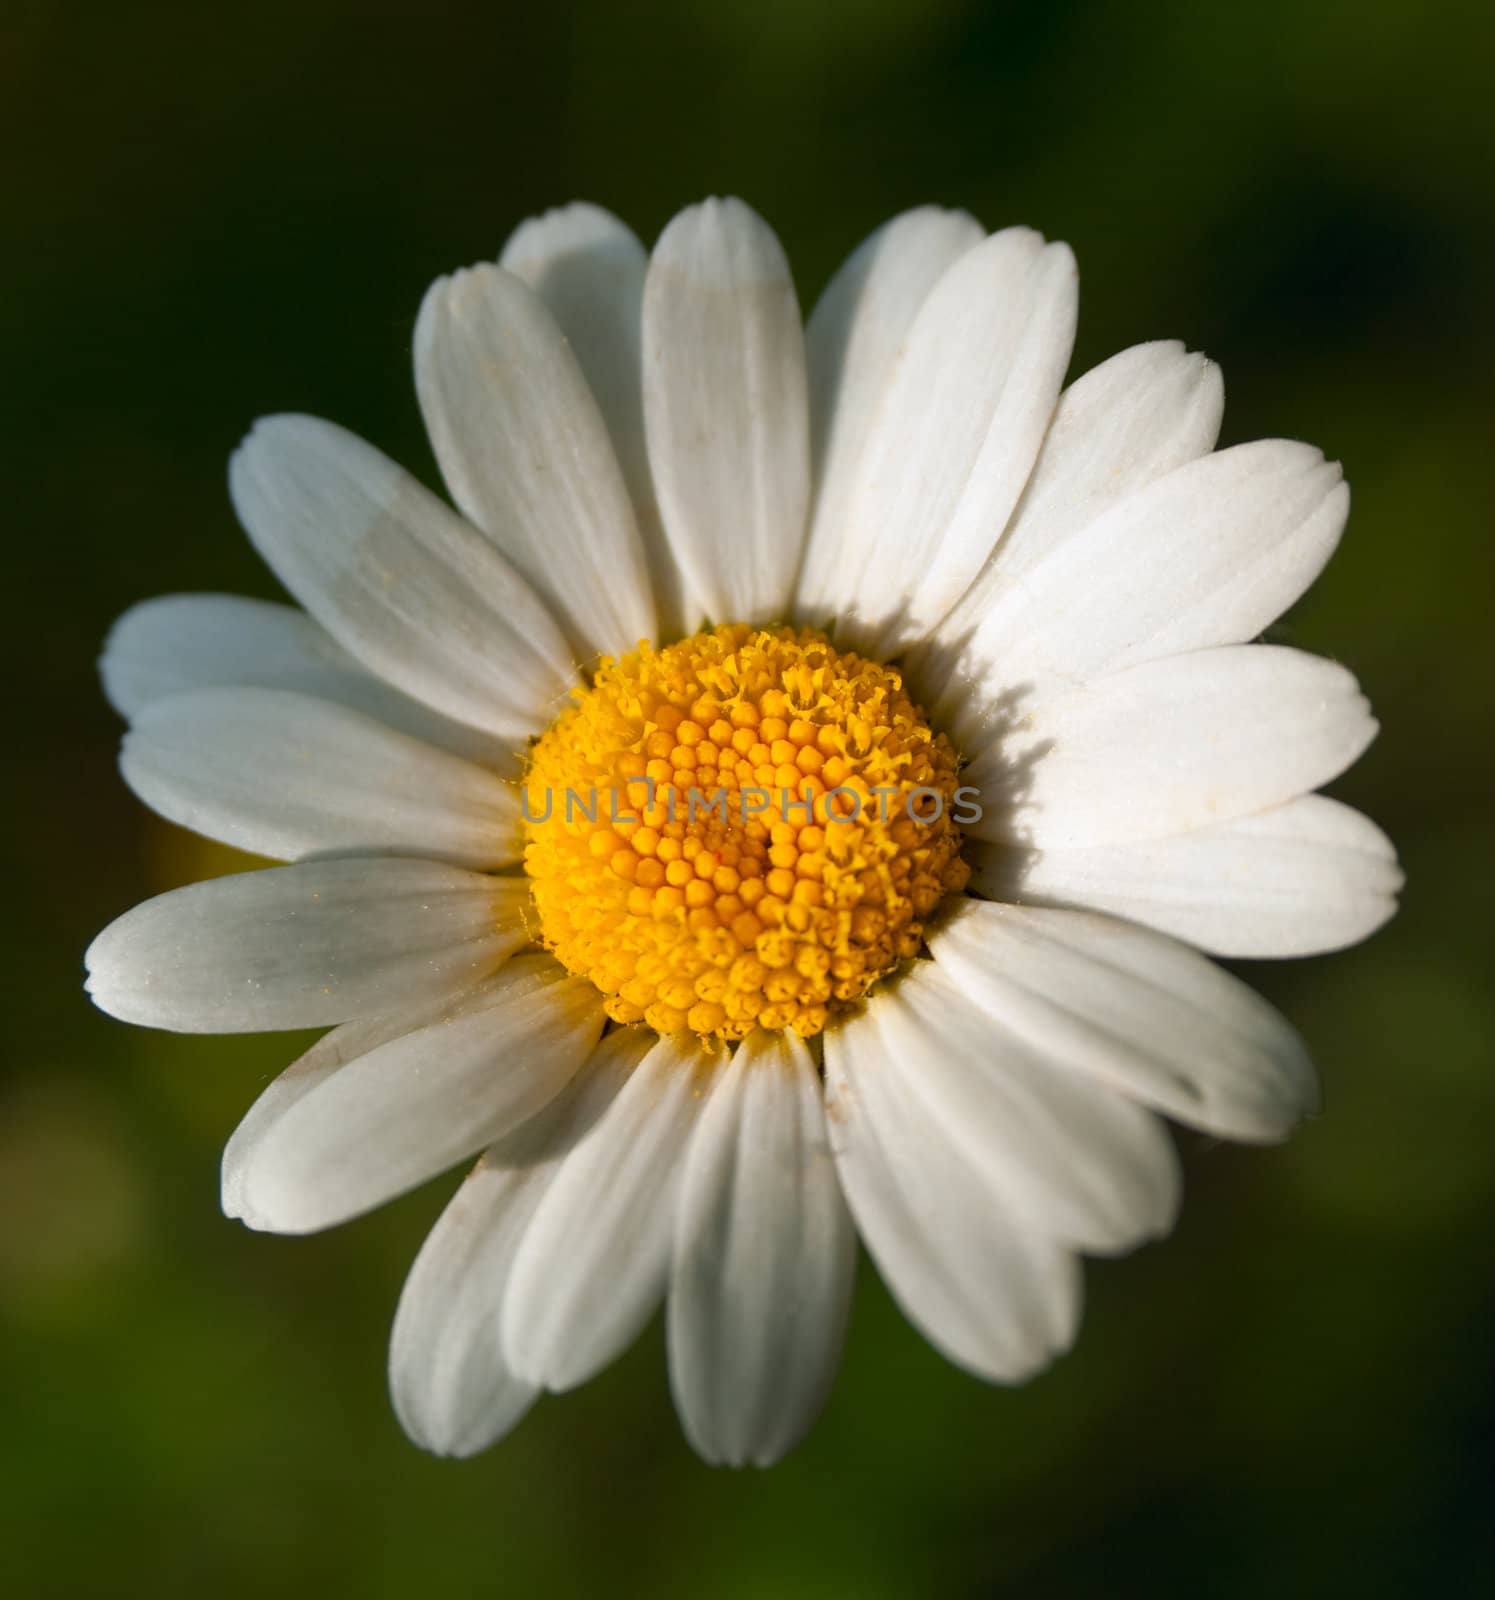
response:
<path id="1" fill-rule="evenodd" d="M 983 691 L 1056 685 L 1255 638 L 1317 578 L 1349 509 L 1309 445 L 1236 445 L 1156 478 L 996 594 L 972 635 Z M 960 693 L 967 693 L 962 690 Z"/>

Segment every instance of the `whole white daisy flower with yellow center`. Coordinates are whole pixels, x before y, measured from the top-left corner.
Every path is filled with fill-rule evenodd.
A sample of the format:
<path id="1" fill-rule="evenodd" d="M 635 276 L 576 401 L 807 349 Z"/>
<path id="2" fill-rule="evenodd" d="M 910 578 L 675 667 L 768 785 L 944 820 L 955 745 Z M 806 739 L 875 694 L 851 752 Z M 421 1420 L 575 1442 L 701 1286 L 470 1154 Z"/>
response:
<path id="1" fill-rule="evenodd" d="M 928 208 L 802 328 L 739 202 L 651 254 L 551 213 L 421 309 L 456 510 L 263 421 L 234 504 L 301 610 L 117 626 L 125 779 L 293 864 L 128 912 L 90 989 L 331 1026 L 224 1154 L 250 1227 L 480 1155 L 395 1317 L 429 1450 L 490 1445 L 663 1299 L 691 1443 L 775 1461 L 856 1235 L 940 1350 L 1021 1381 L 1074 1339 L 1079 1253 L 1168 1232 L 1162 1118 L 1271 1141 L 1313 1109 L 1207 955 L 1393 910 L 1386 838 L 1313 792 L 1375 733 L 1354 680 L 1252 643 L 1348 491 L 1308 445 L 1216 451 L 1220 374 L 1178 344 L 1061 389 L 1076 294 L 1064 245 Z"/>

